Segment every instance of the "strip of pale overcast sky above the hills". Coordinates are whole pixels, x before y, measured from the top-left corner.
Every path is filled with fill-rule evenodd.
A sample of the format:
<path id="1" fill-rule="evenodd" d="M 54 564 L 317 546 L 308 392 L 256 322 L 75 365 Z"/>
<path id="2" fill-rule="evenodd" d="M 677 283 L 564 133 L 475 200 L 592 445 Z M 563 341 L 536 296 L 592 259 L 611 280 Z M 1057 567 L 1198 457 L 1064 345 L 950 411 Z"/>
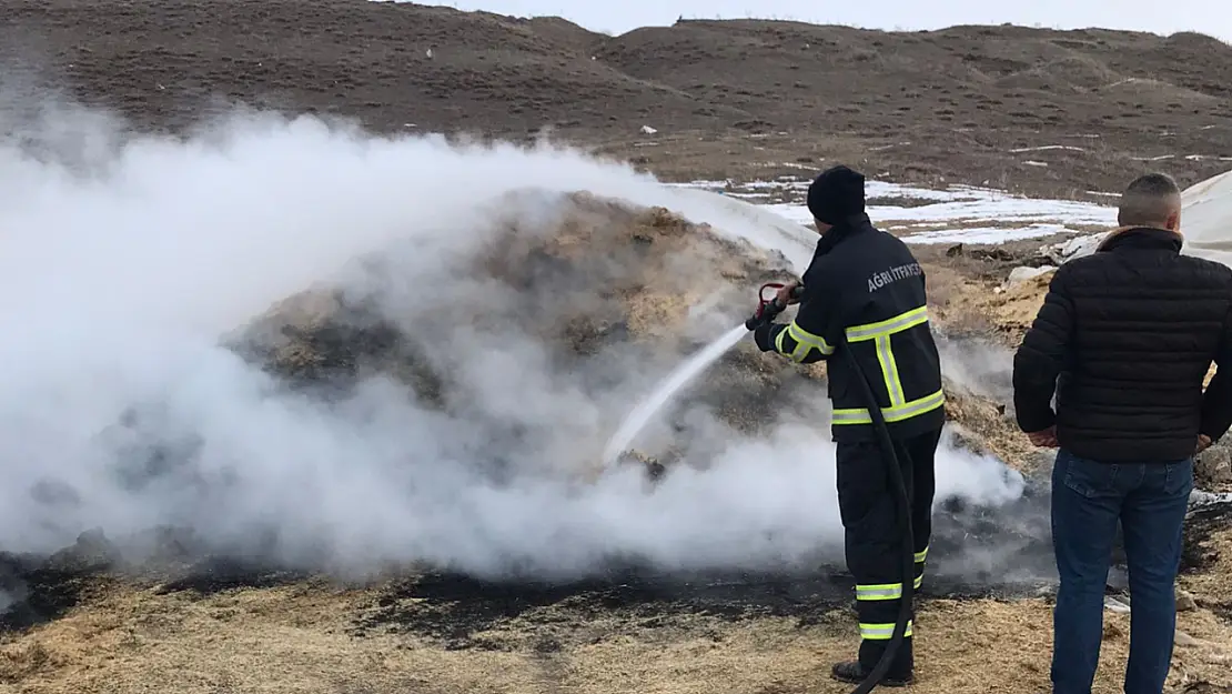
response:
<path id="1" fill-rule="evenodd" d="M 765 18 L 840 23 L 867 28 L 941 28 L 998 25 L 1057 28 L 1108 27 L 1173 33 L 1201 31 L 1232 41 L 1226 0 L 419 0 L 460 10 L 567 17 L 586 28 L 623 33 L 685 18 Z"/>

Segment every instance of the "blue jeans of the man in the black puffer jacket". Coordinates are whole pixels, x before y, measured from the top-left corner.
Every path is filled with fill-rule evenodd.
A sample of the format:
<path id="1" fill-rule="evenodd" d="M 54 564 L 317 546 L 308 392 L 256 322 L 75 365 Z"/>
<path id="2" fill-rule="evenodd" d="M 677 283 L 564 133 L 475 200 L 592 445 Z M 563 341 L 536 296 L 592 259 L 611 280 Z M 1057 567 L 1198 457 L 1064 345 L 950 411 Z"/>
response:
<path id="1" fill-rule="evenodd" d="M 1126 694 L 1161 694 L 1172 667 L 1181 526 L 1194 461 L 1095 462 L 1066 450 L 1052 468 L 1052 545 L 1061 587 L 1053 611 L 1052 692 L 1090 694 L 1104 639 L 1104 587 L 1116 523 L 1130 573 Z"/>

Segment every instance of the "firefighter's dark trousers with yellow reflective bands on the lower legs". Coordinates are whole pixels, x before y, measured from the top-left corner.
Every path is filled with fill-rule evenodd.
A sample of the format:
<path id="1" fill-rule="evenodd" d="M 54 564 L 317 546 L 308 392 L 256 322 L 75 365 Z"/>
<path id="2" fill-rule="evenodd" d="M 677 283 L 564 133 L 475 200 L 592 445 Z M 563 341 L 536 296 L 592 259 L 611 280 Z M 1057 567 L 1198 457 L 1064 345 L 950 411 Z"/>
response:
<path id="1" fill-rule="evenodd" d="M 941 430 L 894 441 L 912 505 L 912 551 L 915 553 L 914 587 L 924 578 L 929 537 L 933 533 L 933 467 Z M 903 533 L 898 525 L 898 492 L 876 441 L 839 443 L 839 513 L 846 534 L 848 569 L 856 582 L 856 613 L 860 618 L 860 664 L 876 667 L 894 632 L 902 605 Z M 912 619 L 914 621 L 914 611 Z M 898 648 L 888 676 L 912 672 L 912 623 Z"/>

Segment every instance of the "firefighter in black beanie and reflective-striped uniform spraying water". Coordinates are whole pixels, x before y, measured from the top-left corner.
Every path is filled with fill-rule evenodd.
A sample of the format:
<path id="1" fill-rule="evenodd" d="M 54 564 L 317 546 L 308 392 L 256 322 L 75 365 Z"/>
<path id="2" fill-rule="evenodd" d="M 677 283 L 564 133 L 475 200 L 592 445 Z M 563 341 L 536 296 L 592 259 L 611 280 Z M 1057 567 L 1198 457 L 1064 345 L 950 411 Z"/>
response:
<path id="1" fill-rule="evenodd" d="M 834 413 L 839 513 L 845 530 L 848 569 L 856 579 L 860 650 L 832 674 L 862 682 L 876 667 L 894 631 L 902 589 L 903 533 L 899 503 L 876 440 L 862 377 L 846 357 L 834 360 L 840 332 L 860 371 L 867 376 L 902 468 L 910 498 L 915 553 L 914 588 L 924 577 L 935 489 L 933 459 L 945 423 L 945 396 L 936 344 L 928 320 L 924 271 L 898 238 L 873 228 L 865 213 L 864 176 L 846 166 L 823 171 L 808 189 L 808 210 L 821 234 L 803 282 L 779 292 L 781 303 L 800 303 L 791 324 L 754 330 L 763 351 L 801 364 L 828 360 Z M 793 298 L 792 291 L 802 286 Z M 840 355 L 843 356 L 843 355 Z M 914 618 L 914 613 L 913 613 Z M 913 680 L 913 625 L 882 685 Z"/>

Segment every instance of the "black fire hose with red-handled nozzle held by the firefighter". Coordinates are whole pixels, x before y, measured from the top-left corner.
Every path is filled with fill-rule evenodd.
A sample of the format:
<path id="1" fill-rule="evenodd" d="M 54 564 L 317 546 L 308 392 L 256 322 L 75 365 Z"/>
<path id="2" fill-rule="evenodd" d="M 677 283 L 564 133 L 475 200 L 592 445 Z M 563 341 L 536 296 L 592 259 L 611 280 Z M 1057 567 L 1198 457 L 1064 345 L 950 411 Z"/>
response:
<path id="1" fill-rule="evenodd" d="M 772 322 L 780 313 L 787 309 L 787 304 L 780 303 L 779 297 L 765 298 L 765 291 L 781 290 L 784 285 L 769 282 L 761 285 L 758 290 L 758 309 L 748 320 L 744 322 L 744 327 L 749 330 L 756 330 L 758 328 Z M 804 293 L 804 287 L 797 286 L 791 291 L 792 298 L 800 298 Z M 894 656 L 902 647 L 903 639 L 907 634 L 907 623 L 912 619 L 912 602 L 915 597 L 915 547 L 914 547 L 914 534 L 912 531 L 912 509 L 910 498 L 907 496 L 907 483 L 903 478 L 902 467 L 899 467 L 898 454 L 894 450 L 894 441 L 890 438 L 890 429 L 886 427 L 886 418 L 881 412 L 881 406 L 877 403 L 876 396 L 872 393 L 872 386 L 869 382 L 869 375 L 864 372 L 860 367 L 859 361 L 851 354 L 846 341 L 846 330 L 841 329 L 839 325 L 838 330 L 832 330 L 832 334 L 838 335 L 838 353 L 841 359 L 845 360 L 846 365 L 855 372 L 859 378 L 856 381 L 860 383 L 860 390 L 864 396 L 865 406 L 869 409 L 869 414 L 872 417 L 872 428 L 877 435 L 877 445 L 881 446 L 882 460 L 890 467 L 890 477 L 893 481 L 894 491 L 898 497 L 898 525 L 902 531 L 903 537 L 903 566 L 902 566 L 902 586 L 903 597 L 901 600 L 901 608 L 898 610 L 898 621 L 894 623 L 894 632 L 890 639 L 890 643 L 886 645 L 886 650 L 881 655 L 881 659 L 877 661 L 876 667 L 872 672 L 864 678 L 864 682 L 859 687 L 851 690 L 851 694 L 869 694 L 872 692 L 881 679 L 886 677 L 890 671 L 891 663 L 894 662 Z"/>

